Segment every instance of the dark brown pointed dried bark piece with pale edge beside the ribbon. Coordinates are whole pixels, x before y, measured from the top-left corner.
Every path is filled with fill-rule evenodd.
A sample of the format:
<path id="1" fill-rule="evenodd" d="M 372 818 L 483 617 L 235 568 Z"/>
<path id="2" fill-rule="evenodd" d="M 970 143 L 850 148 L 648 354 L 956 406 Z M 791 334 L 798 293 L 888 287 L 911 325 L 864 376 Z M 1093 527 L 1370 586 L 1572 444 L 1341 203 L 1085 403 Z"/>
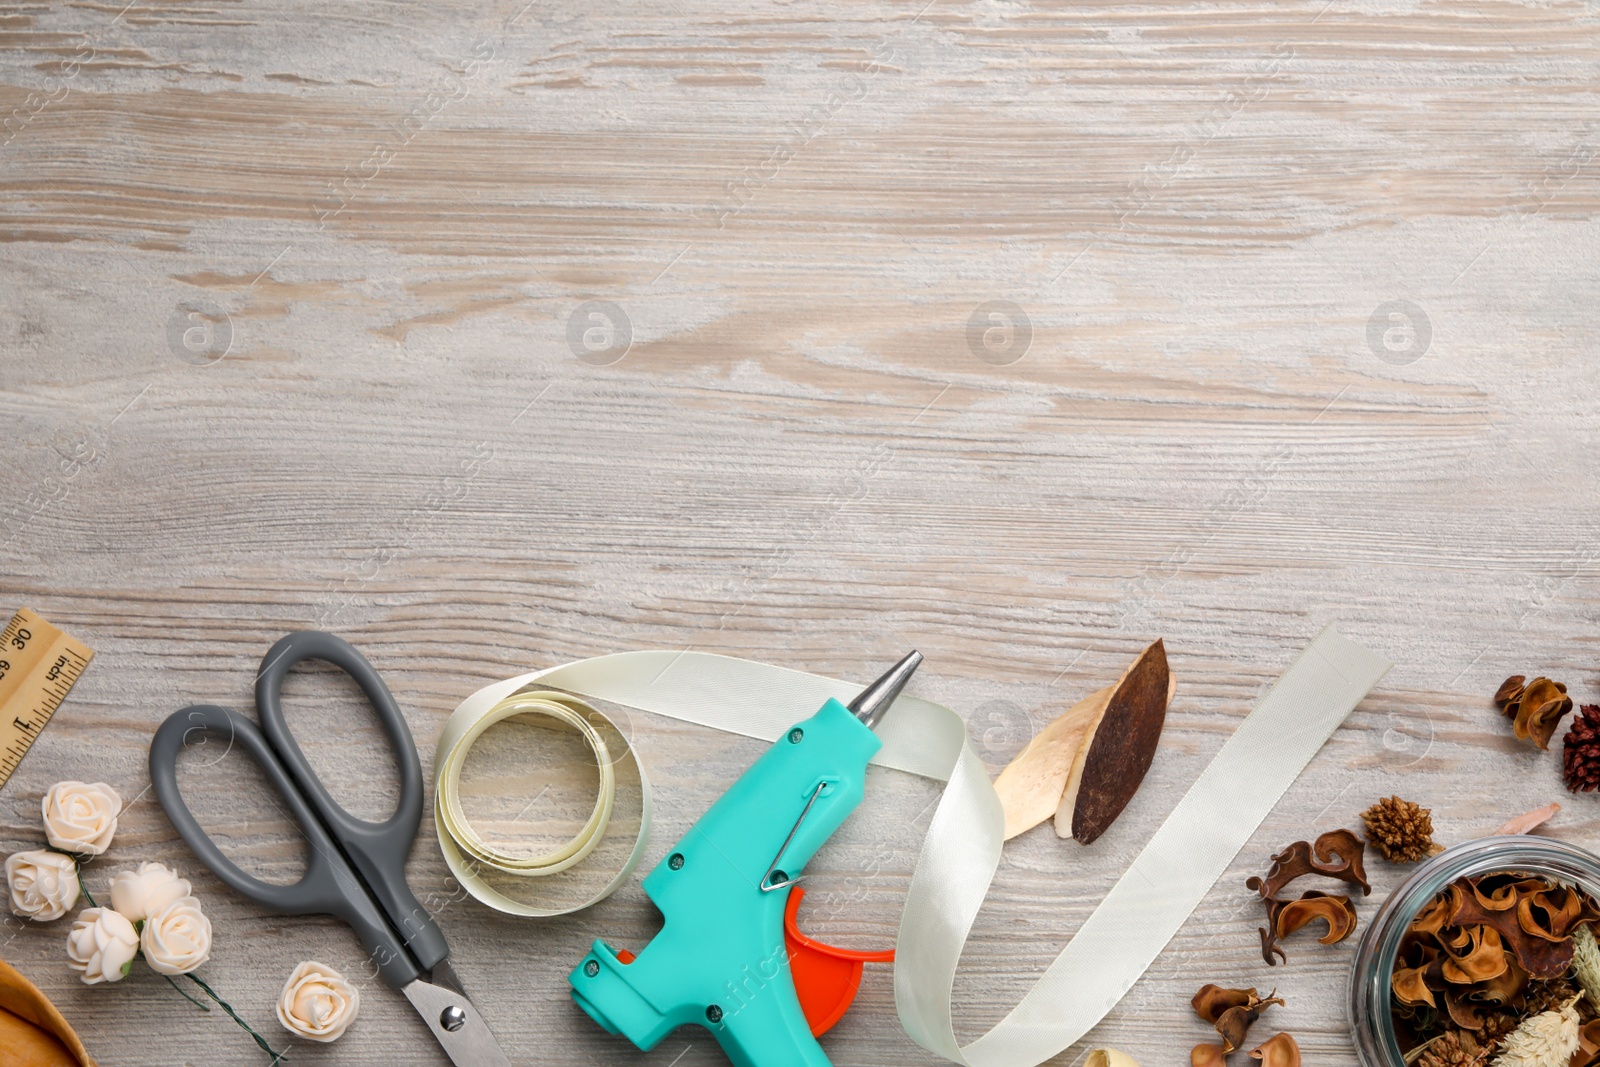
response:
<path id="1" fill-rule="evenodd" d="M 1166 646 L 1157 640 L 1123 672 L 1083 739 L 1056 808 L 1056 837 L 1090 845 L 1110 829 L 1150 769 L 1170 693 Z"/>

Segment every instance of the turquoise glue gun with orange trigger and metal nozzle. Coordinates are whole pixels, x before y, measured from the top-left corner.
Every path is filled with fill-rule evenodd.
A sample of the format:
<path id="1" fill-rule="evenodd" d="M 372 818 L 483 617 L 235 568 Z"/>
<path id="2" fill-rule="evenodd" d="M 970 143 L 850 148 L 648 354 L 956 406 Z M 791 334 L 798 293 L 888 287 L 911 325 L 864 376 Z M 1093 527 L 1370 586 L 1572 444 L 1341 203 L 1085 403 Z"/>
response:
<path id="1" fill-rule="evenodd" d="M 798 931 L 800 872 L 843 824 L 882 747 L 872 726 L 917 664 L 910 653 L 843 705 L 827 701 L 746 771 L 645 878 L 664 925 L 638 955 L 603 941 L 568 976 L 610 1033 L 653 1049 L 674 1029 L 712 1032 L 734 1067 L 829 1067 L 816 1037 L 893 952 L 848 952 Z"/>

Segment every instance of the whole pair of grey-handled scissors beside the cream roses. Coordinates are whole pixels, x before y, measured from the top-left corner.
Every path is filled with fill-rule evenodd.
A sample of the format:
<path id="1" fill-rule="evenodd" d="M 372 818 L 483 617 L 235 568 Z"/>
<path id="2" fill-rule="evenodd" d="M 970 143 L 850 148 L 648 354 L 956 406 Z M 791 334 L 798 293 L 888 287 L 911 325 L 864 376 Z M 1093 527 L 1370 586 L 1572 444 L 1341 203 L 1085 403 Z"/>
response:
<path id="1" fill-rule="evenodd" d="M 290 733 L 278 701 L 283 677 L 302 659 L 326 661 L 350 675 L 378 712 L 400 765 L 400 803 L 382 822 L 341 808 Z M 389 686 L 347 641 L 320 630 L 274 645 L 256 675 L 261 726 L 243 715 L 195 704 L 174 712 L 150 741 L 150 782 L 179 837 L 211 872 L 282 915 L 336 915 L 362 939 L 384 981 L 405 993 L 456 1067 L 510 1067 L 499 1041 L 461 989 L 450 945 L 405 880 L 405 861 L 422 821 L 422 763 Z M 178 790 L 178 752 L 198 733 L 242 745 L 282 793 L 310 843 L 306 873 L 293 885 L 246 875 L 200 829 Z"/>

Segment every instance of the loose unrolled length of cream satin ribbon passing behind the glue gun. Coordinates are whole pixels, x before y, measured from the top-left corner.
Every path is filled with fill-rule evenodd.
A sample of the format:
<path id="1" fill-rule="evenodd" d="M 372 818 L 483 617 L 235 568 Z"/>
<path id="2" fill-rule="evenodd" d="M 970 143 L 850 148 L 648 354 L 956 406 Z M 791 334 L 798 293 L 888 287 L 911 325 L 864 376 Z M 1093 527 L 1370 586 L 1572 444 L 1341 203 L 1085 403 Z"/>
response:
<path id="1" fill-rule="evenodd" d="M 952 990 L 962 949 L 1000 862 L 1000 798 L 960 715 L 931 701 L 898 699 L 878 725 L 883 749 L 874 763 L 949 782 L 901 913 L 894 961 L 901 1025 L 928 1051 L 968 1067 L 1034 1067 L 1069 1048 L 1144 974 L 1390 665 L 1325 629 L 1234 731 L 1034 989 L 966 1046 L 955 1038 Z M 534 681 L 763 741 L 776 741 L 827 697 L 848 701 L 859 691 L 846 681 L 709 653 L 618 653 L 480 689 L 450 717 L 440 752 L 451 752 L 501 697 Z M 443 825 L 440 846 L 462 885 L 485 899 L 480 888 L 488 886 L 456 862 L 461 853 Z M 611 889 L 626 877 L 613 880 Z"/>

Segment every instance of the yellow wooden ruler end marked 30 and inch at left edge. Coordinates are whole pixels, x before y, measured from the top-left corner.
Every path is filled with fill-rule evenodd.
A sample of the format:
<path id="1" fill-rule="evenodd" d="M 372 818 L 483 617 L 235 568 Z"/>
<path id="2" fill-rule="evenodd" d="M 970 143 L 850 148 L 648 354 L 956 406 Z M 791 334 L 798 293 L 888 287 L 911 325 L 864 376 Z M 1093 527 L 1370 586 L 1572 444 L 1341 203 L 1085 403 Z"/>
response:
<path id="1" fill-rule="evenodd" d="M 22 608 L 0 633 L 0 787 L 94 653 Z"/>

